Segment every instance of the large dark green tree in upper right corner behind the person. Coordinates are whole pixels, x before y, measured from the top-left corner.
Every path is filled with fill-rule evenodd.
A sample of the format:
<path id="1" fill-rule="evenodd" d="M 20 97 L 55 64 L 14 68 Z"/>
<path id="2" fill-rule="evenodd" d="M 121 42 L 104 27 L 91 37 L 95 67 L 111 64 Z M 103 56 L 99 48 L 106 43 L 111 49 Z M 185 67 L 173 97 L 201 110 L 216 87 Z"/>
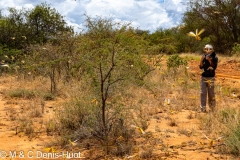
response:
<path id="1" fill-rule="evenodd" d="M 189 10 L 184 13 L 183 30 L 195 32 L 205 28 L 201 37 L 208 37 L 215 51 L 230 53 L 233 44 L 239 43 L 240 4 L 237 1 L 194 0 L 189 3 Z"/>

